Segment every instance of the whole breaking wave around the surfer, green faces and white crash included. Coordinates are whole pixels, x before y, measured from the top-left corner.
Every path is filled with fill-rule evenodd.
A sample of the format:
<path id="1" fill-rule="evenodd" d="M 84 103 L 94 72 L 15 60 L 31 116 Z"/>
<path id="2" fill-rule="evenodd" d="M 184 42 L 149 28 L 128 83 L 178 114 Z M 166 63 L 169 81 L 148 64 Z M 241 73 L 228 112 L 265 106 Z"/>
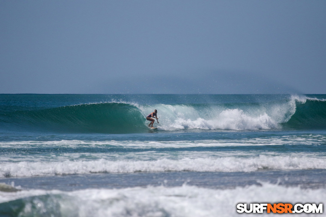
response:
<path id="1" fill-rule="evenodd" d="M 325 129 L 326 100 L 291 96 L 270 102 L 139 105 L 106 102 L 0 114 L 0 127 L 77 133 L 142 133 L 158 110 L 159 130 Z"/>

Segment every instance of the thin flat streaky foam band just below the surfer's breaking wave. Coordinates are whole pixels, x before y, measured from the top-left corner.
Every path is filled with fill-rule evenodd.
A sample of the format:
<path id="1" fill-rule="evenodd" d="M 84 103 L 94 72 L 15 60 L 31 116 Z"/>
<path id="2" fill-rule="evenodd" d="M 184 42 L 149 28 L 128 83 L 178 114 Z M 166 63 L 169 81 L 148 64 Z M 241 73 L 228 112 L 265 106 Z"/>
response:
<path id="1" fill-rule="evenodd" d="M 304 137 L 303 137 L 304 136 Z M 227 146 L 256 146 L 256 145 L 283 145 L 286 141 L 288 145 L 315 145 L 320 141 L 326 141 L 325 135 L 289 135 L 274 137 L 255 137 L 242 139 L 204 139 L 204 140 L 175 140 L 175 141 L 139 141 L 139 140 L 104 140 L 104 141 L 85 141 L 85 140 L 54 140 L 54 141 L 10 141 L 0 142 L 2 148 L 85 148 L 85 147 L 124 147 L 124 148 L 185 148 L 185 147 L 227 147 Z"/>

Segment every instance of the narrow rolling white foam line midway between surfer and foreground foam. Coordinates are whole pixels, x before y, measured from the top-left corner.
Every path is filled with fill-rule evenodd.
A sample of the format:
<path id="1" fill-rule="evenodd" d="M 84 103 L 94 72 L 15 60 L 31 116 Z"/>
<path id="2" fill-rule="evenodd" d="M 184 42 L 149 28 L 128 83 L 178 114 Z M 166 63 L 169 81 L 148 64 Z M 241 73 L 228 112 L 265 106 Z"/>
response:
<path id="1" fill-rule="evenodd" d="M 325 157 L 301 155 L 258 157 L 203 157 L 158 160 L 93 160 L 63 162 L 19 162 L 2 163 L 0 177 L 54 176 L 61 174 L 87 173 L 134 173 L 166 171 L 198 172 L 250 172 L 259 169 L 299 170 L 326 169 Z"/>

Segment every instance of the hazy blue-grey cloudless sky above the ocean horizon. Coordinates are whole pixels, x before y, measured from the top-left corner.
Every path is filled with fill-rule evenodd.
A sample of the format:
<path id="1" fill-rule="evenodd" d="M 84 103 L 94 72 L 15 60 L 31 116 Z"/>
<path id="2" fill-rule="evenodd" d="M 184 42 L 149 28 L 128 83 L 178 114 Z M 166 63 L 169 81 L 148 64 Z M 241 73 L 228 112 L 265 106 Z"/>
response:
<path id="1" fill-rule="evenodd" d="M 326 94 L 325 81 L 325 0 L 0 0 L 0 93 Z"/>

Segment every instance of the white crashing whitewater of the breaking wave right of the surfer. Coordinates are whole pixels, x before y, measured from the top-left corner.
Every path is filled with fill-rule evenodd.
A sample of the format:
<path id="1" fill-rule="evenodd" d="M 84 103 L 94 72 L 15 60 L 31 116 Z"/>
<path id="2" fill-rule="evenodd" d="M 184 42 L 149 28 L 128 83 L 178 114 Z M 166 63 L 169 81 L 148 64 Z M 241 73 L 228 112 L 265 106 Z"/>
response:
<path id="1" fill-rule="evenodd" d="M 306 100 L 292 96 L 289 101 L 276 104 L 243 105 L 243 108 L 225 108 L 210 104 L 138 106 L 143 115 L 148 110 L 158 110 L 160 124 L 164 130 L 176 129 L 223 129 L 259 130 L 280 128 L 295 113 L 295 102 Z"/>

